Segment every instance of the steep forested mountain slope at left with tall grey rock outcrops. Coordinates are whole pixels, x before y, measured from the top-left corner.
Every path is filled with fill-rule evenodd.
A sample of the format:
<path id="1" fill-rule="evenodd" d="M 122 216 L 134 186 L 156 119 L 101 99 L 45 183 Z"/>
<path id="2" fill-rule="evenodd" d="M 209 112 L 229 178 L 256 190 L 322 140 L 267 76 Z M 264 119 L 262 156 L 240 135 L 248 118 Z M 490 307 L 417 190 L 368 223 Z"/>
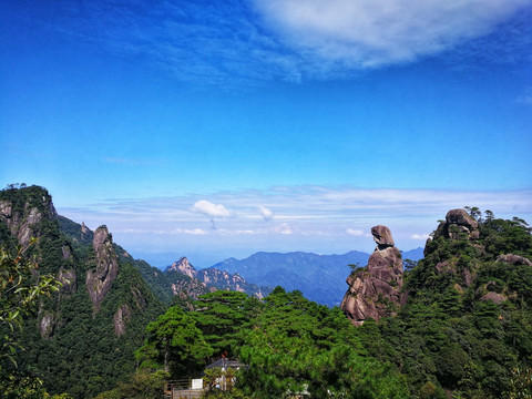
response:
<path id="1" fill-rule="evenodd" d="M 75 398 L 94 396 L 134 371 L 133 350 L 164 306 L 139 270 L 119 258 L 105 226 L 92 233 L 59 217 L 42 187 L 9 188 L 0 192 L 0 244 L 9 250 L 28 246 L 40 273 L 63 282 L 37 318 L 25 321 L 21 370 L 35 372 L 49 391 Z"/>

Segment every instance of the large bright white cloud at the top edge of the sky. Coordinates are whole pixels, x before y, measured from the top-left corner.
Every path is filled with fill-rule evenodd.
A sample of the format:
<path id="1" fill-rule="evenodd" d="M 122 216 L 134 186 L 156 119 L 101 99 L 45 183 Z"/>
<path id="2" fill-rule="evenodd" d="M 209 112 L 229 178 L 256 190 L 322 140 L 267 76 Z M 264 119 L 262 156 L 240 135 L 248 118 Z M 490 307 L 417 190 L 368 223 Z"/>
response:
<path id="1" fill-rule="evenodd" d="M 493 30 L 530 0 L 255 0 L 303 53 L 347 65 L 412 61 Z"/>

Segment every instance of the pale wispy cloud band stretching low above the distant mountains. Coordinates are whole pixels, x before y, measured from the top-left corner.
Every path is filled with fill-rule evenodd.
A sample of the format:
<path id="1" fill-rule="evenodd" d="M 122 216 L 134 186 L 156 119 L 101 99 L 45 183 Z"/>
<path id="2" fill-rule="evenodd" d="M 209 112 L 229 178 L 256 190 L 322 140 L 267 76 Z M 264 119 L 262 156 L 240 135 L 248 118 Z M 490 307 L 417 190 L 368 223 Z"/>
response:
<path id="1" fill-rule="evenodd" d="M 532 218 L 531 190 L 279 186 L 266 191 L 212 193 L 211 201 L 202 197 L 187 194 L 109 200 L 82 208 L 58 211 L 93 228 L 106 224 L 125 247 L 135 242 L 137 246 L 154 246 L 161 250 L 175 246 L 207 246 L 229 253 L 231 248 L 243 246 L 257 250 L 307 248 L 321 253 L 368 249 L 374 246 L 368 238 L 369 231 L 377 224 L 389 226 L 399 248 L 409 249 L 422 245 L 449 209 L 467 205 L 490 209 L 497 217 L 519 216 L 529 222 Z M 260 206 L 275 214 L 268 223 L 257 213 Z M 191 212 L 193 209 L 195 212 Z M 216 221 L 217 228 L 204 229 L 205 217 L 213 224 Z"/>

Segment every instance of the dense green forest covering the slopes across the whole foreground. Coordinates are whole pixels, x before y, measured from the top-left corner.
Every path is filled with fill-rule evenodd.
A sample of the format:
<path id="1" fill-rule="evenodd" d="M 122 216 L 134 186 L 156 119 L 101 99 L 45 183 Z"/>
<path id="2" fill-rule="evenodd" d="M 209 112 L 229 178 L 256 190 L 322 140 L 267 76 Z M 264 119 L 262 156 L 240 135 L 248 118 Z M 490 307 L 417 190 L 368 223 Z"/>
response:
<path id="1" fill-rule="evenodd" d="M 474 234 L 440 224 L 423 259 L 403 259 L 405 303 L 355 327 L 340 308 L 283 287 L 264 299 L 173 298 L 106 229 L 58 216 L 41 187 L 9 187 L 2 398 L 162 398 L 165 380 L 203 376 L 212 387 L 222 372 L 229 389 L 205 397 L 532 398 L 531 228 L 467 211 Z M 245 367 L 205 370 L 222 357 Z"/>

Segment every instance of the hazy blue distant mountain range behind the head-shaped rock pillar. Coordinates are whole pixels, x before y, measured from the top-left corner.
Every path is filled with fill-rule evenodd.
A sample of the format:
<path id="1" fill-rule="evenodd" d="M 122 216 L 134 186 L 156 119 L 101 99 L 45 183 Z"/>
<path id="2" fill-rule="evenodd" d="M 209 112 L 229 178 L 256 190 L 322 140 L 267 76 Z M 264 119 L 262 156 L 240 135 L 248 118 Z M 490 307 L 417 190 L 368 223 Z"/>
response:
<path id="1" fill-rule="evenodd" d="M 418 260 L 422 258 L 423 249 L 408 250 L 402 255 L 405 259 Z M 247 283 L 259 286 L 297 289 L 310 300 L 338 306 L 347 290 L 349 265 L 366 266 L 369 254 L 358 250 L 344 255 L 259 252 L 242 260 L 228 258 L 209 268 L 238 274 Z"/>

